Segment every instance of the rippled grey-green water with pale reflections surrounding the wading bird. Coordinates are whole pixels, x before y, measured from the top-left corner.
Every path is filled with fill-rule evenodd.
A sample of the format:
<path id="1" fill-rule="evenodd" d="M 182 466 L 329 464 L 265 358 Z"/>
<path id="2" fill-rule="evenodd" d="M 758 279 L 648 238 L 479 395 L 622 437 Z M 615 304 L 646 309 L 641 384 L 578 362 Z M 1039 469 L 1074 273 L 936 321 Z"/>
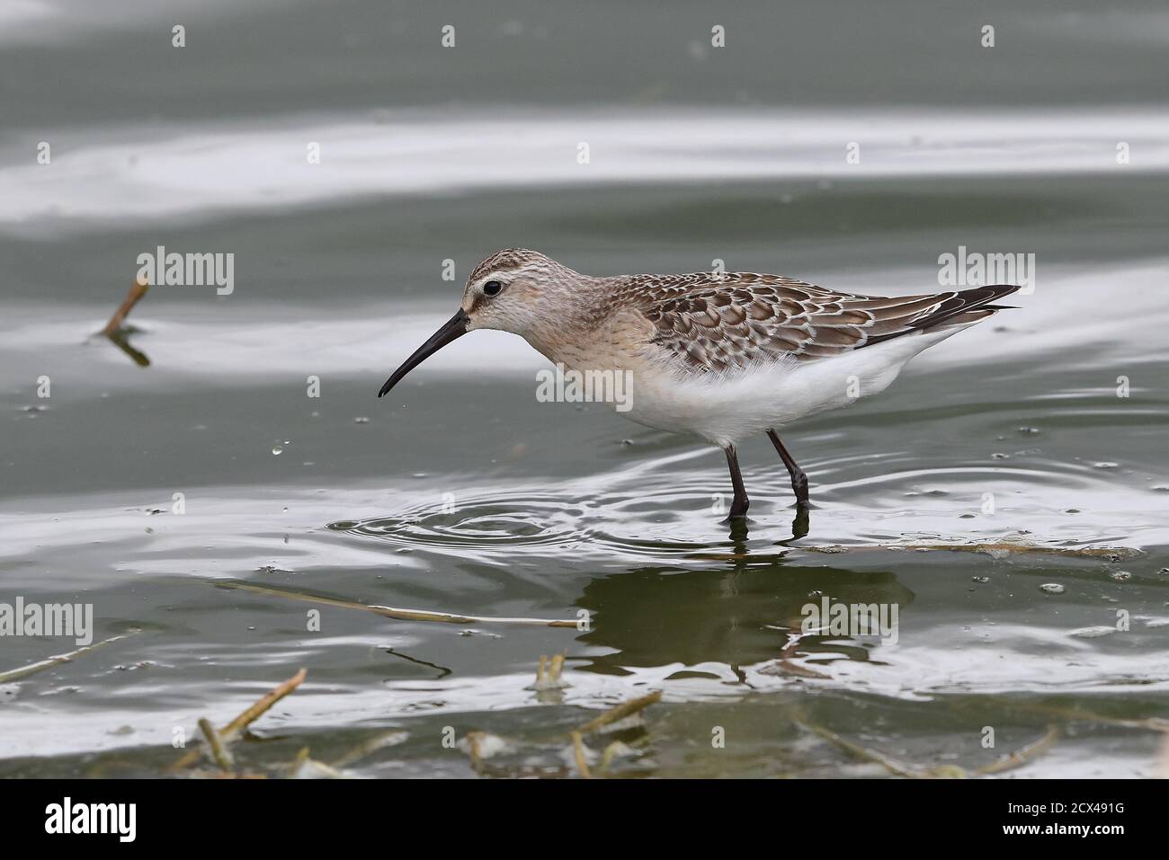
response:
<path id="1" fill-rule="evenodd" d="M 609 771 L 974 772 L 1022 749 L 1003 776 L 1155 771 L 1163 14 L 906 28 L 856 4 L 843 33 L 752 4 L 719 53 L 701 4 L 172 2 L 118 28 L 85 8 L 14 6 L 0 39 L 0 602 L 91 603 L 95 641 L 119 638 L 0 682 L 0 775 L 157 775 L 177 729 L 299 667 L 244 767 L 309 747 L 361 776 L 570 775 L 573 728 L 660 691 L 642 726 L 586 738 L 627 744 Z M 1037 270 L 1021 310 L 784 435 L 815 502 L 794 539 L 766 439 L 740 451 L 752 520 L 729 529 L 718 451 L 537 402 L 516 338 L 462 339 L 376 400 L 513 244 L 878 293 L 931 289 L 960 245 Z M 158 245 L 233 252 L 235 289 L 152 289 L 131 354 L 96 333 Z M 803 632 L 824 597 L 895 605 L 895 641 Z M 75 647 L 5 637 L 0 673 Z M 558 653 L 570 686 L 532 689 Z M 503 751 L 473 761 L 473 731 Z"/>

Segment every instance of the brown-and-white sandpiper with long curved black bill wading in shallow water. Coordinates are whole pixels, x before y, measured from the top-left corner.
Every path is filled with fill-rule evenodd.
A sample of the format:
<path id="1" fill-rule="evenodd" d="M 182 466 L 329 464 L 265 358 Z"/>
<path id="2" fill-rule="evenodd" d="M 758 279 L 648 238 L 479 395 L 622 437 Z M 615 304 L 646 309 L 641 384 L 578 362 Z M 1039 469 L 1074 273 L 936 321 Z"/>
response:
<path id="1" fill-rule="evenodd" d="M 885 389 L 909 359 L 1003 310 L 992 303 L 1018 289 L 881 297 L 755 272 L 592 277 L 509 248 L 475 268 L 458 312 L 378 396 L 468 332 L 511 332 L 558 367 L 629 374 L 624 417 L 721 448 L 729 519 L 749 505 L 735 444 L 753 434 L 767 434 L 805 508 L 808 476 L 776 429 Z"/>

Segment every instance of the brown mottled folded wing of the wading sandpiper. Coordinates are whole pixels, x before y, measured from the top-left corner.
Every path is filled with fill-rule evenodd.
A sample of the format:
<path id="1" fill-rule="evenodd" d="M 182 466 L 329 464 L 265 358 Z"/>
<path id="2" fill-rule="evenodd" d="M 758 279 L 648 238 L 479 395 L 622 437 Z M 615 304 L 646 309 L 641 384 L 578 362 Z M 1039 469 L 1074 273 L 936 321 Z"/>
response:
<path id="1" fill-rule="evenodd" d="M 653 324 L 652 342 L 696 370 L 734 370 L 781 356 L 815 361 L 934 325 L 1017 286 L 922 296 L 858 296 L 777 275 L 636 276 L 627 287 Z M 989 313 L 984 314 L 989 315 Z M 971 315 L 969 321 L 977 319 Z"/>

